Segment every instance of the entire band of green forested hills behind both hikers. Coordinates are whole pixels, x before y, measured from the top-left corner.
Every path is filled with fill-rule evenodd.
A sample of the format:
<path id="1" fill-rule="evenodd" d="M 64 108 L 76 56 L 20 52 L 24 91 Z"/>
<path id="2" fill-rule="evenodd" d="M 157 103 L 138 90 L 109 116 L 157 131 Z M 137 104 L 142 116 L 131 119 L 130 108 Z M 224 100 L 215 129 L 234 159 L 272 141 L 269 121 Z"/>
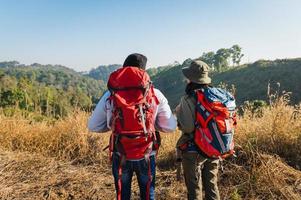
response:
<path id="1" fill-rule="evenodd" d="M 182 64 L 148 69 L 156 88 L 174 108 L 184 94 Z M 23 65 L 16 61 L 0 63 L 0 107 L 20 108 L 47 116 L 65 116 L 75 107 L 90 110 L 97 103 L 109 74 L 120 65 L 100 66 L 83 75 L 60 65 Z M 210 72 L 213 85 L 234 85 L 237 103 L 267 100 L 272 93 L 292 92 L 292 103 L 301 101 L 301 58 L 259 60 Z M 95 77 L 95 78 L 92 78 Z M 103 80 L 102 80 L 103 79 Z"/>

